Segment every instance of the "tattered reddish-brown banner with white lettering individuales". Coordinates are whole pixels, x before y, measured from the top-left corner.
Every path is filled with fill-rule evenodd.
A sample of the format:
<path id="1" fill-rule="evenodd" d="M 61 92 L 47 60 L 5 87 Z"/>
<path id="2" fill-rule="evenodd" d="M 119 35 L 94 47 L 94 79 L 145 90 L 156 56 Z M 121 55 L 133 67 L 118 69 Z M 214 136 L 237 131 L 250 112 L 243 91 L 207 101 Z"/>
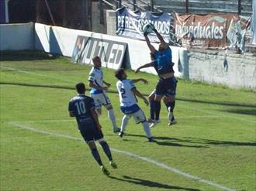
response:
<path id="1" fill-rule="evenodd" d="M 227 46 L 227 29 L 236 14 L 206 15 L 175 13 L 175 34 L 182 46 L 201 49 L 223 49 Z"/>

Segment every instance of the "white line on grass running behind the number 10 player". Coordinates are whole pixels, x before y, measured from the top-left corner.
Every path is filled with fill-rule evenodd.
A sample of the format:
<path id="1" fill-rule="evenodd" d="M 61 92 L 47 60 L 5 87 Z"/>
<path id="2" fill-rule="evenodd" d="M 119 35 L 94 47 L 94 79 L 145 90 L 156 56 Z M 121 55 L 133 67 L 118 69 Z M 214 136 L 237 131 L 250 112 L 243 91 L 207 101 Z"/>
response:
<path id="1" fill-rule="evenodd" d="M 43 131 L 43 130 L 40 130 L 40 129 L 29 127 L 26 124 L 18 124 L 18 123 L 15 123 L 15 122 L 9 122 L 9 124 L 12 124 L 12 125 L 14 125 L 16 127 L 23 128 L 23 129 L 26 129 L 26 130 L 29 130 L 29 131 L 35 131 L 37 133 L 41 133 L 41 134 L 44 134 L 44 135 L 52 135 L 54 137 L 69 138 L 69 139 L 72 139 L 72 140 L 83 141 L 81 138 L 75 138 L 75 137 L 68 136 L 68 135 L 61 135 L 61 134 L 52 133 L 52 132 L 49 132 L 49 131 Z M 197 182 L 205 183 L 205 184 L 207 184 L 209 186 L 213 186 L 213 187 L 216 187 L 216 188 L 219 188 L 219 189 L 223 189 L 223 190 L 227 190 L 227 191 L 236 191 L 235 189 L 230 189 L 227 186 L 222 186 L 222 185 L 217 184 L 215 182 L 211 182 L 211 181 L 206 180 L 206 179 L 201 179 L 198 176 L 193 176 L 193 175 L 191 175 L 189 173 L 183 172 L 182 170 L 175 169 L 175 168 L 173 168 L 173 167 L 171 167 L 169 165 L 165 165 L 164 163 L 157 162 L 157 161 L 155 161 L 153 159 L 149 159 L 149 158 L 141 156 L 141 155 L 136 155 L 136 154 L 133 154 L 131 152 L 122 151 L 122 150 L 119 150 L 119 149 L 116 149 L 116 148 L 111 148 L 111 150 L 113 152 L 119 152 L 119 153 L 122 153 L 124 155 L 128 155 L 130 157 L 136 158 L 136 159 L 140 159 L 140 160 L 143 160 L 143 161 L 146 161 L 146 162 L 150 162 L 153 165 L 160 166 L 163 169 L 167 169 L 168 171 L 175 172 L 178 175 L 185 176 L 188 179 L 192 179 L 192 180 L 195 180 Z"/>

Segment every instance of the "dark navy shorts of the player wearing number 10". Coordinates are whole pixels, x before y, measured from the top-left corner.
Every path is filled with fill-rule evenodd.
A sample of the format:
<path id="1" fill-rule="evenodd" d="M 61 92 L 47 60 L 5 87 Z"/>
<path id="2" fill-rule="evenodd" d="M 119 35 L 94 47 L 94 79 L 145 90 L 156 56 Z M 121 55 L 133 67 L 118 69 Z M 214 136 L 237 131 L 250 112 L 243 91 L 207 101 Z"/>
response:
<path id="1" fill-rule="evenodd" d="M 86 143 L 97 141 L 104 137 L 102 131 L 99 131 L 95 123 L 86 124 L 86 126 L 80 128 L 79 131 L 81 136 L 85 139 Z"/>

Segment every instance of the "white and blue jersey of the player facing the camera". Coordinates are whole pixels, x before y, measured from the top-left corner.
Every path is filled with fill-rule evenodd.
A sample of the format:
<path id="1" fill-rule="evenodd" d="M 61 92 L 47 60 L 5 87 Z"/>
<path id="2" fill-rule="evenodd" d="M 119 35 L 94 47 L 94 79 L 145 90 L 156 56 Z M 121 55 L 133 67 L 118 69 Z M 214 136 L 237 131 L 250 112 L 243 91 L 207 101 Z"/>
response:
<path id="1" fill-rule="evenodd" d="M 102 70 L 100 70 L 99 68 L 96 68 L 96 67 L 92 67 L 92 69 L 89 73 L 88 81 L 92 81 L 93 84 L 95 84 L 99 87 L 103 87 L 103 72 L 102 72 Z M 103 93 L 102 90 L 98 90 L 95 88 L 92 88 L 92 90 L 90 90 L 90 94 L 102 94 L 102 93 Z"/>

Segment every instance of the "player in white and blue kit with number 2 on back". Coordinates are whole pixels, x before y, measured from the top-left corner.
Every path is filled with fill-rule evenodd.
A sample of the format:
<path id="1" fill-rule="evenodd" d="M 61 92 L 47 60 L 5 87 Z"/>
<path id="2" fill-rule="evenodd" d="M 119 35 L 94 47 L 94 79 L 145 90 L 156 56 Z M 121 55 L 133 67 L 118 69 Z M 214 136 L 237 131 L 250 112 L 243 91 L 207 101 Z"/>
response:
<path id="1" fill-rule="evenodd" d="M 124 114 L 119 136 L 121 138 L 123 137 L 126 125 L 128 124 L 129 119 L 133 117 L 137 124 L 143 124 L 144 131 L 147 135 L 148 141 L 154 142 L 154 138 L 152 138 L 151 136 L 149 124 L 144 115 L 144 112 L 137 105 L 136 96 L 143 99 L 144 103 L 148 105 L 147 98 L 140 94 L 140 91 L 138 91 L 135 85 L 133 84 L 139 81 L 143 81 L 144 84 L 147 84 L 147 80 L 144 80 L 142 78 L 136 80 L 129 80 L 127 79 L 127 75 L 123 68 L 116 70 L 115 76 L 117 79 L 119 79 L 119 81 L 116 83 L 116 88 L 119 93 L 120 108 Z"/>

